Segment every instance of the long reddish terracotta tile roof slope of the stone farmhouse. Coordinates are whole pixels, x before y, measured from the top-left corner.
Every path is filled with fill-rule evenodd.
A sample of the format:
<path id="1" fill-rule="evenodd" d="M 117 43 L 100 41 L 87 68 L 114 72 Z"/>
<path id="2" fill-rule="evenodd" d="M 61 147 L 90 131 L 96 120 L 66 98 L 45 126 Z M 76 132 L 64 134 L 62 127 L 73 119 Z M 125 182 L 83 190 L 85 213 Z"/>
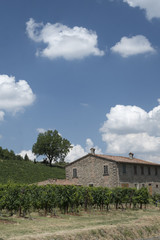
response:
<path id="1" fill-rule="evenodd" d="M 135 163 L 135 164 L 146 164 L 146 165 L 155 165 L 160 166 L 158 163 L 144 161 L 138 158 L 129 158 L 129 157 L 122 157 L 122 156 L 111 156 L 111 155 L 102 155 L 102 154 L 95 154 L 97 157 L 102 157 L 108 160 L 112 160 L 119 163 Z"/>

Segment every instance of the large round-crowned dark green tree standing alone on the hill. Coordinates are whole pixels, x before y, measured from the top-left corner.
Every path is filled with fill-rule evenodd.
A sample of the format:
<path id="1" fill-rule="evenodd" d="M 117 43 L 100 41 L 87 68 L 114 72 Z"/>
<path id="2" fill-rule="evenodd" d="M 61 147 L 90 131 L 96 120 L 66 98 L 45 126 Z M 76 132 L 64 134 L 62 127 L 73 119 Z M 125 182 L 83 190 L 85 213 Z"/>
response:
<path id="1" fill-rule="evenodd" d="M 62 138 L 57 130 L 48 130 L 45 133 L 39 133 L 37 142 L 32 147 L 32 152 L 37 156 L 45 155 L 50 163 L 52 161 L 64 161 L 65 156 L 72 148 L 71 143 Z"/>

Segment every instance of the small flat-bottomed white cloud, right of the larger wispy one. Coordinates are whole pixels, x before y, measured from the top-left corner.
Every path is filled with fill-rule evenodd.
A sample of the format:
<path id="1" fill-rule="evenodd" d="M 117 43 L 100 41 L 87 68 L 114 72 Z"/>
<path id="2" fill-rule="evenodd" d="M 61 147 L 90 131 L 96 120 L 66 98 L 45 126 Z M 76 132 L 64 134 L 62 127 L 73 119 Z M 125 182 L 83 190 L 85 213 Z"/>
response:
<path id="1" fill-rule="evenodd" d="M 137 35 L 131 38 L 122 37 L 120 42 L 111 48 L 111 51 L 120 54 L 122 57 L 156 52 L 148 39 L 143 35 Z"/>

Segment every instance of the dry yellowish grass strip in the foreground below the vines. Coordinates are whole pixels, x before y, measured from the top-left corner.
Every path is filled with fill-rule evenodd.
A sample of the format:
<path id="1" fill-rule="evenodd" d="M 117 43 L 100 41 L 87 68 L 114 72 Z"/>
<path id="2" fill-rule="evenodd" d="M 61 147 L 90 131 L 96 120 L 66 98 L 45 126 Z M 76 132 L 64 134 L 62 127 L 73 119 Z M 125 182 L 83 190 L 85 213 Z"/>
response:
<path id="1" fill-rule="evenodd" d="M 0 217 L 0 240 L 131 240 L 160 236 L 160 209 Z"/>

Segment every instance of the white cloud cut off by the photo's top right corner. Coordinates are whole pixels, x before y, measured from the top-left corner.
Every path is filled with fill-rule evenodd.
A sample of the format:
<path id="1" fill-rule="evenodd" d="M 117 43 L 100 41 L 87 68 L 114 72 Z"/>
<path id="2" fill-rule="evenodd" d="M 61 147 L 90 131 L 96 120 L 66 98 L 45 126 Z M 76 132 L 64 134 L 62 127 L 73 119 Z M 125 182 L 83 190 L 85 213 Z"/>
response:
<path id="1" fill-rule="evenodd" d="M 160 1 L 159 0 L 123 0 L 131 7 L 144 9 L 148 20 L 160 18 Z"/>

